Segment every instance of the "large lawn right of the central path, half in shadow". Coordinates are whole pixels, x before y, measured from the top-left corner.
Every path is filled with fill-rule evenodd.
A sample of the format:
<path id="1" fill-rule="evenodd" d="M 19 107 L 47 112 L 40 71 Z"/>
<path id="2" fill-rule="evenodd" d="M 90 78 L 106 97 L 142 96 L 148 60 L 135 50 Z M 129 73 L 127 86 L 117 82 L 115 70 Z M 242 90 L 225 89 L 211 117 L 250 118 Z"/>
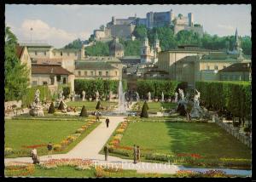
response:
<path id="1" fill-rule="evenodd" d="M 166 154 L 251 158 L 251 150 L 246 145 L 215 123 L 131 122 L 120 145 L 134 144 L 142 149 Z"/>

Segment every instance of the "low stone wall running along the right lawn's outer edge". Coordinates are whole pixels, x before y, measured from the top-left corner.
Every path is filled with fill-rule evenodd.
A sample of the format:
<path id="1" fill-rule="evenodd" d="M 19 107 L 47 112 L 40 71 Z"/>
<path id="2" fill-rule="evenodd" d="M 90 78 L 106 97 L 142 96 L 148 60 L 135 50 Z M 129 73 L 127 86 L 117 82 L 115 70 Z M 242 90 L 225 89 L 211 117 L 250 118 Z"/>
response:
<path id="1" fill-rule="evenodd" d="M 240 140 L 241 143 L 252 148 L 252 137 L 247 136 L 245 133 L 239 132 L 239 129 L 234 128 L 233 124 L 223 122 L 218 117 L 215 117 L 215 122 L 218 124 L 219 127 L 224 128 L 224 130 L 226 130 L 229 134 L 232 134 L 236 139 Z"/>

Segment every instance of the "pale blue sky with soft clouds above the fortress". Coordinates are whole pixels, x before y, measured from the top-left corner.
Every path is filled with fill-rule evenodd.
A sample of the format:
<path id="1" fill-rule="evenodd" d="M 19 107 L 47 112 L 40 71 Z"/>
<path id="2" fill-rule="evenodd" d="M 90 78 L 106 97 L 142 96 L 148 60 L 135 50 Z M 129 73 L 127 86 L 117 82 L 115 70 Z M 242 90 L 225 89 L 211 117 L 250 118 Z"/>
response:
<path id="1" fill-rule="evenodd" d="M 172 11 L 175 15 L 194 14 L 195 23 L 211 35 L 251 36 L 251 5 L 58 5 L 6 4 L 5 24 L 11 27 L 19 42 L 49 43 L 55 48 L 80 38 L 86 40 L 95 29 L 111 17 L 128 18 L 137 14 L 145 18 L 150 11 Z M 32 30 L 31 30 L 32 28 Z"/>

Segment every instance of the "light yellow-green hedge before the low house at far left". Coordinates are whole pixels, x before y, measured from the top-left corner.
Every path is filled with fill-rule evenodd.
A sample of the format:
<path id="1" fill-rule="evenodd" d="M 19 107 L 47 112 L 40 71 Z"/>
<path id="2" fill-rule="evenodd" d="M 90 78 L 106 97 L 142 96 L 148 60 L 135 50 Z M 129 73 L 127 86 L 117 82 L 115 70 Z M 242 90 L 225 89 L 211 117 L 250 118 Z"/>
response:
<path id="1" fill-rule="evenodd" d="M 40 90 L 40 101 L 52 99 L 47 85 L 35 86 L 32 88 L 27 88 L 26 94 L 22 97 L 22 105 L 27 106 L 32 104 L 35 99 L 37 89 Z"/>

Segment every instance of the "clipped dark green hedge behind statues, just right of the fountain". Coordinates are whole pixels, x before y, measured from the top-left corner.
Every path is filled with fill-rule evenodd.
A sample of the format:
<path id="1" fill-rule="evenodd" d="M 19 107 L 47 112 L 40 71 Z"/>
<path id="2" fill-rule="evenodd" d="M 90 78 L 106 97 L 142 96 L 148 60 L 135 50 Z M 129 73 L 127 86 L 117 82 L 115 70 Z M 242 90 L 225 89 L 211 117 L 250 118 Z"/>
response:
<path id="1" fill-rule="evenodd" d="M 147 97 L 148 92 L 151 93 L 152 98 L 160 98 L 162 92 L 165 94 L 165 97 L 172 97 L 179 83 L 180 82 L 169 80 L 138 80 L 137 92 L 144 98 Z"/>

